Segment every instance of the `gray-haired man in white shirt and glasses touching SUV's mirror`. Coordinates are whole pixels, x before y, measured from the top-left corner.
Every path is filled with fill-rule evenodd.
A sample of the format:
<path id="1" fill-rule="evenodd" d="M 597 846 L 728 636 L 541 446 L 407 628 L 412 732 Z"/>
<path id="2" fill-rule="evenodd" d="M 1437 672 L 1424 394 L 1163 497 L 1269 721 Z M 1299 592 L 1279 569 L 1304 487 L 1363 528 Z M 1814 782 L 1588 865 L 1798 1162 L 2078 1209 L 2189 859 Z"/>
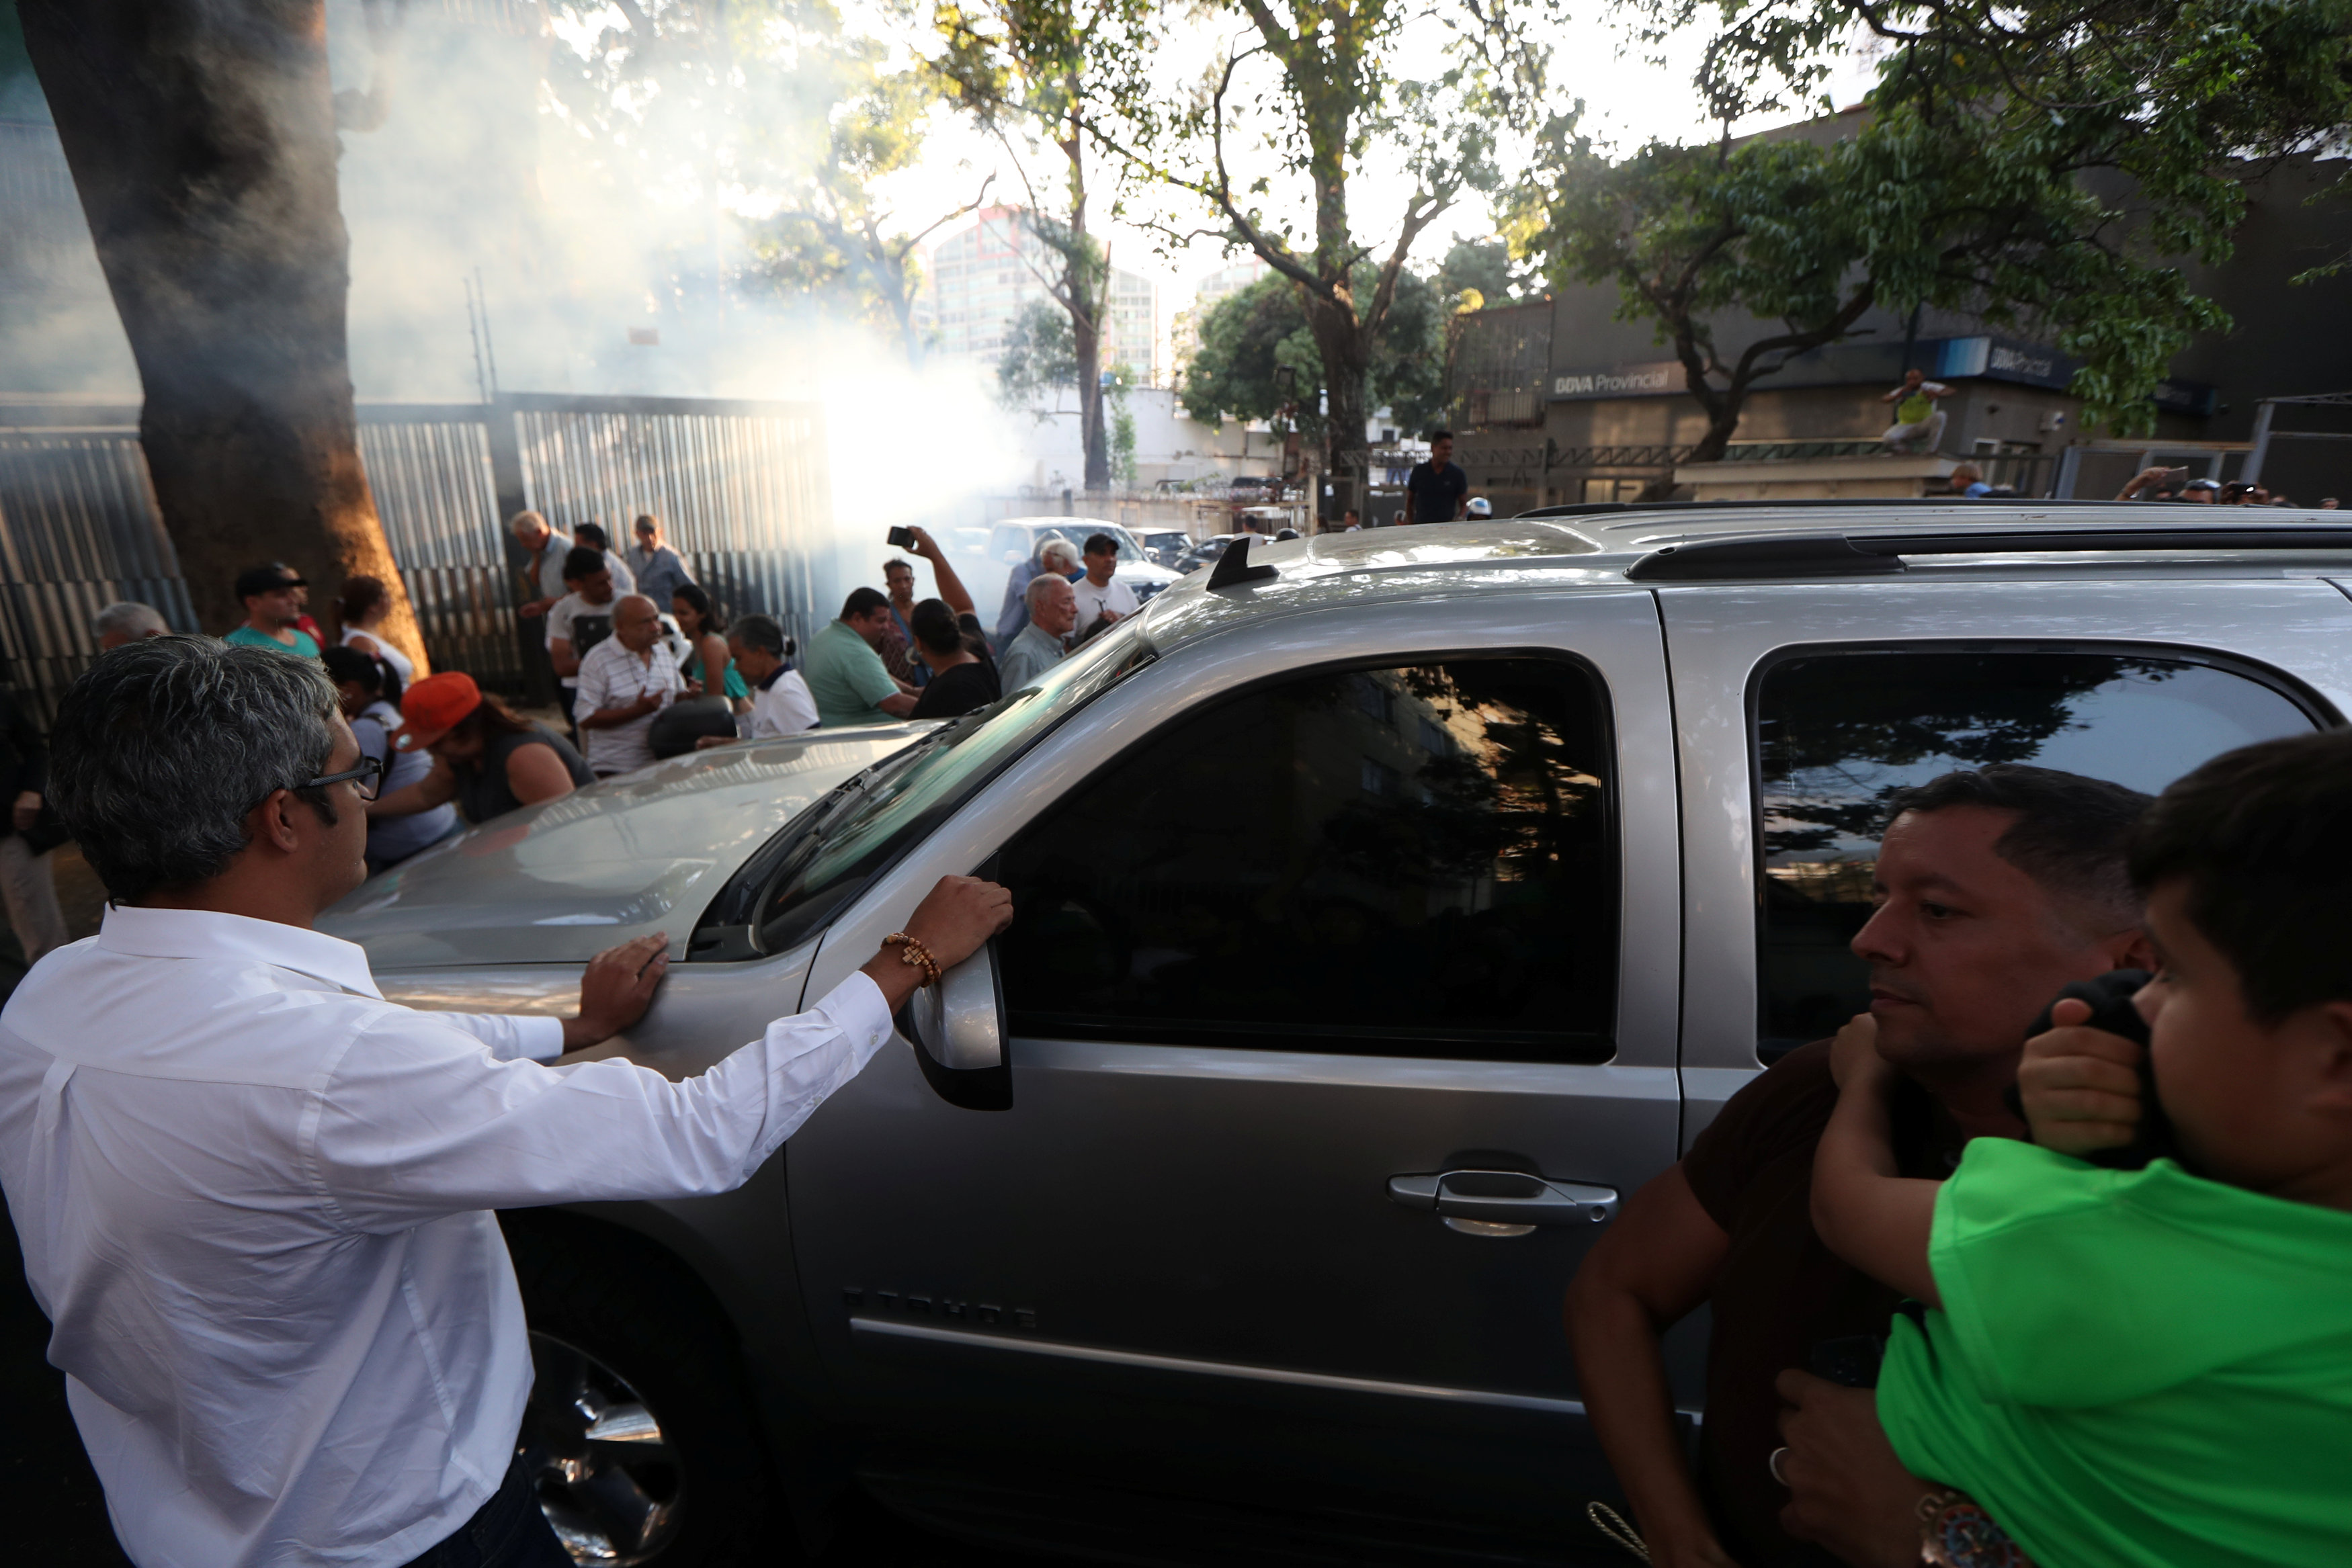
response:
<path id="1" fill-rule="evenodd" d="M 548 1065 L 644 1013 L 666 940 L 597 957 L 562 1023 L 383 1001 L 313 929 L 376 783 L 313 663 L 136 642 L 52 748 L 113 903 L 0 1011 L 0 1190 L 125 1552 L 393 1568 L 494 1521 L 475 1561 L 562 1563 L 515 1465 L 532 1349 L 492 1211 L 739 1187 L 924 971 L 884 950 L 677 1084 Z M 906 929 L 953 966 L 1009 919 L 950 877 Z"/>

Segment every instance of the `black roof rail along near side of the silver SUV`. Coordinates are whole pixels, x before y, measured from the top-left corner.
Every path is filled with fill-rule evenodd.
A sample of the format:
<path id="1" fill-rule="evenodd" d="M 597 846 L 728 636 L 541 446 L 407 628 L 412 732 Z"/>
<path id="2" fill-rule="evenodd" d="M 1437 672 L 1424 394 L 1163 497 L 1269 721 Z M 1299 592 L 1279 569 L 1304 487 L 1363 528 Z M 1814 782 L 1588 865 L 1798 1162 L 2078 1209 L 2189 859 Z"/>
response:
<path id="1" fill-rule="evenodd" d="M 1896 576 L 1905 555 L 2053 555 L 2084 550 L 2352 550 L 2352 524 L 2258 527 L 2227 522 L 2018 529 L 1950 534 L 1731 534 L 1661 545 L 1625 569 L 1639 583 L 1752 576 Z"/>

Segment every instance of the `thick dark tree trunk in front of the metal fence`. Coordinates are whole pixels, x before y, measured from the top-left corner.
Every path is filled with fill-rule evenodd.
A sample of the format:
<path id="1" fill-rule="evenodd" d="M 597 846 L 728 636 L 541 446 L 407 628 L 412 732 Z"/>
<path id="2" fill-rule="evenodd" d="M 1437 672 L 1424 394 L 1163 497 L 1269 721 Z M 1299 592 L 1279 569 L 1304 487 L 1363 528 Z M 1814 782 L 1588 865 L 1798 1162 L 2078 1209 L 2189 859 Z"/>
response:
<path id="1" fill-rule="evenodd" d="M 207 630 L 233 578 L 282 559 L 390 585 L 423 642 L 360 473 L 325 0 L 19 0 L 146 409 L 165 529 Z"/>

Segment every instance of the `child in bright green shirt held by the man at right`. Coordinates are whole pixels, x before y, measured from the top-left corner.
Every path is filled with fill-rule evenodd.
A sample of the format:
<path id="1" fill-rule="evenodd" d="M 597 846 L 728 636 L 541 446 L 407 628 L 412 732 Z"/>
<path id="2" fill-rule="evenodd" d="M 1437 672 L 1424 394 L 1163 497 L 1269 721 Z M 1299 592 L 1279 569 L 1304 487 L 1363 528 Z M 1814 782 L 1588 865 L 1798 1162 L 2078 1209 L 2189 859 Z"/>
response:
<path id="1" fill-rule="evenodd" d="M 2079 1159 L 2131 1140 L 2140 1048 L 2063 1001 L 2018 1070 L 2034 1143 L 1978 1138 L 1950 1180 L 1903 1180 L 1893 1074 L 1853 1027 L 1813 1222 L 1926 1305 L 1879 1375 L 1903 1465 L 2037 1563 L 2352 1563 L 2352 731 L 2176 783 L 2133 879 L 2180 1157 Z"/>

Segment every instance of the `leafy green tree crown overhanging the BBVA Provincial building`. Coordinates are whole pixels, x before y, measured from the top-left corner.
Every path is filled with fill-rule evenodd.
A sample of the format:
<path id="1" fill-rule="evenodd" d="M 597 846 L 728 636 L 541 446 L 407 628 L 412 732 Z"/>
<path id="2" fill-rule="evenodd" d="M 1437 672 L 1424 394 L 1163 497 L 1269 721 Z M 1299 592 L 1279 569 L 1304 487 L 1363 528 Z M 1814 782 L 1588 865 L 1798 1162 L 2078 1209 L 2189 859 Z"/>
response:
<path id="1" fill-rule="evenodd" d="M 2180 270 L 2218 263 L 2244 181 L 2352 122 L 2352 0 L 1646 0 L 1653 38 L 1717 14 L 1698 85 L 1729 122 L 1813 92 L 1858 31 L 1879 87 L 1835 146 L 1651 146 L 1599 160 L 1555 125 L 1510 233 L 1555 280 L 1613 280 L 1731 404 L 1705 313 L 1835 341 L 1867 296 L 2044 336 L 2117 433 L 2190 334 L 2227 327 Z M 1858 313 L 1856 313 L 1858 315 Z M 1689 353 L 1686 353 L 1689 350 Z M 1722 400 L 1693 395 L 1717 421 Z M 1731 409 L 1736 416 L 1736 407 Z"/>

